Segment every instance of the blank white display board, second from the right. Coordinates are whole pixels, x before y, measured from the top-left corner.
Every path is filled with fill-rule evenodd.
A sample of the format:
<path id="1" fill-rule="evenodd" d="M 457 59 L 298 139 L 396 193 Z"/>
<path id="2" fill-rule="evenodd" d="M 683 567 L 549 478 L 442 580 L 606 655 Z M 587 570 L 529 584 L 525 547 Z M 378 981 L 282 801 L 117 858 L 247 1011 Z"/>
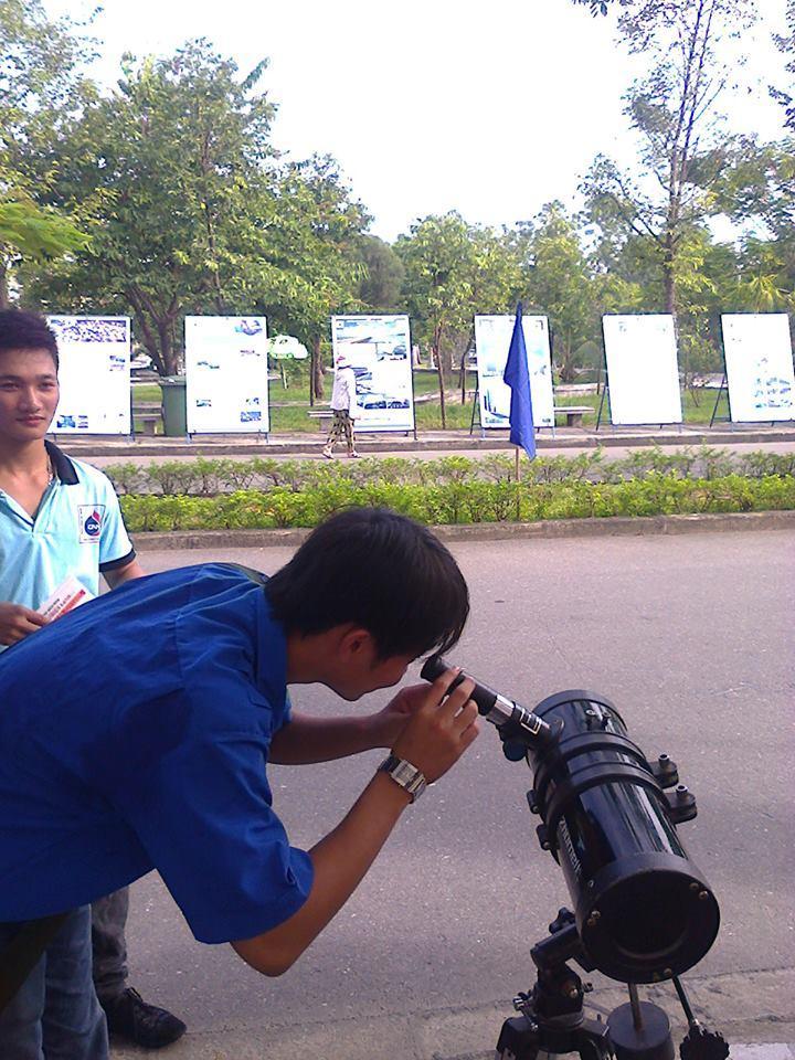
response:
<path id="1" fill-rule="evenodd" d="M 674 317 L 605 316 L 602 328 L 613 423 L 681 423 Z"/>

